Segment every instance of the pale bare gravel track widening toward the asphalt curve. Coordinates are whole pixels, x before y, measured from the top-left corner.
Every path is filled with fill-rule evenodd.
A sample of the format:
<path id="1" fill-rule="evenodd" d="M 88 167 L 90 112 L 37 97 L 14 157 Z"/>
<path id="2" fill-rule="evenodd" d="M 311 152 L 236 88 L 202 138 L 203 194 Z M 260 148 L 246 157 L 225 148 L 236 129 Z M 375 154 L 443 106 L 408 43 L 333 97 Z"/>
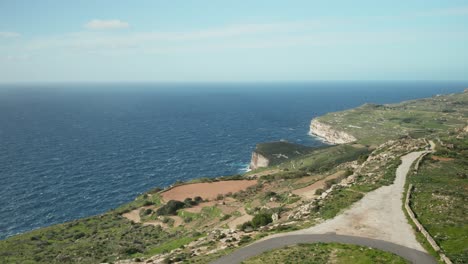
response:
<path id="1" fill-rule="evenodd" d="M 423 153 L 413 152 L 402 157 L 394 184 L 369 192 L 335 218 L 298 232 L 367 237 L 425 251 L 416 240 L 402 208 L 406 174 L 411 164 Z"/>

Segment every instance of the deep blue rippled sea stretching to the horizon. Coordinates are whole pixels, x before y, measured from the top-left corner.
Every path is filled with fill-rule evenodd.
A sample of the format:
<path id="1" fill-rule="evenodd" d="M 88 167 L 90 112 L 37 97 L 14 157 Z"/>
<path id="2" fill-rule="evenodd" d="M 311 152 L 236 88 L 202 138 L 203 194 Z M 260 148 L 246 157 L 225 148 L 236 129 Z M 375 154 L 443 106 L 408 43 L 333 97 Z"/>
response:
<path id="1" fill-rule="evenodd" d="M 310 120 L 465 82 L 0 85 L 0 238 L 103 213 L 177 180 L 242 173 Z"/>

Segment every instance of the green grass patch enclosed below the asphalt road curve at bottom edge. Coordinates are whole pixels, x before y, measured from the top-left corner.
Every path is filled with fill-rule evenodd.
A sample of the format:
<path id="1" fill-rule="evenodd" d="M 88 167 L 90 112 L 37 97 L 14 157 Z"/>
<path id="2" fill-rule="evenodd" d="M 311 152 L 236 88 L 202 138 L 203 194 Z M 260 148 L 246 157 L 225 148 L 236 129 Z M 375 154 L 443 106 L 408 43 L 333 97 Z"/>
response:
<path id="1" fill-rule="evenodd" d="M 405 259 L 385 251 L 337 243 L 300 244 L 272 250 L 242 262 L 243 264 L 260 263 L 409 263 Z"/>

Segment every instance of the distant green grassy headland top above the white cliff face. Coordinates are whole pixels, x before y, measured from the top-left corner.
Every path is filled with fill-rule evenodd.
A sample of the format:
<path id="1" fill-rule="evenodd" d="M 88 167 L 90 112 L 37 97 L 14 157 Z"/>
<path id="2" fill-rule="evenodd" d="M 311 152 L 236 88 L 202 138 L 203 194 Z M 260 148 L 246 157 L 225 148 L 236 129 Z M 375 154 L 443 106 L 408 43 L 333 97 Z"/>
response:
<path id="1" fill-rule="evenodd" d="M 468 122 L 468 93 L 391 105 L 366 104 L 318 120 L 350 133 L 363 144 L 380 144 L 406 135 L 417 138 L 464 126 Z"/>

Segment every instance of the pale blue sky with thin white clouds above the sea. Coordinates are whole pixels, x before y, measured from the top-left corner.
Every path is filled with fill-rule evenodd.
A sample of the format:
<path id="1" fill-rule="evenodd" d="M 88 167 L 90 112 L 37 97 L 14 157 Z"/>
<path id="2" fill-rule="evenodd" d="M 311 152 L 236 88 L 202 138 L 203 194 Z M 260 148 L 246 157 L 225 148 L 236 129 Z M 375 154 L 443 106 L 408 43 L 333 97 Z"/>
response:
<path id="1" fill-rule="evenodd" d="M 0 0 L 0 82 L 468 80 L 468 0 Z"/>

